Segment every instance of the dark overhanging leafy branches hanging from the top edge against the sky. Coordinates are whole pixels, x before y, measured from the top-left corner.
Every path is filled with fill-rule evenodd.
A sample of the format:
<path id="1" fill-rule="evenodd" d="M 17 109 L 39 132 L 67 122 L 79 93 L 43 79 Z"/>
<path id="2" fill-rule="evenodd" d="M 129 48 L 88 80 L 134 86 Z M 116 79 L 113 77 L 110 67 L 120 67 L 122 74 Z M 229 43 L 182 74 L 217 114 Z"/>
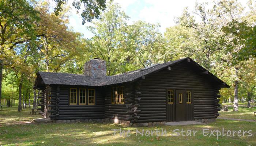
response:
<path id="1" fill-rule="evenodd" d="M 59 15 L 59 12 L 63 11 L 63 4 L 67 2 L 67 0 L 54 0 L 56 2 L 56 7 L 54 8 L 55 15 Z M 83 18 L 82 24 L 87 22 L 91 22 L 94 18 L 99 19 L 100 10 L 105 10 L 106 8 L 106 0 L 74 0 L 72 3 L 73 7 L 76 8 L 77 13 L 81 9 L 81 4 L 83 5 L 83 11 L 81 16 Z"/>

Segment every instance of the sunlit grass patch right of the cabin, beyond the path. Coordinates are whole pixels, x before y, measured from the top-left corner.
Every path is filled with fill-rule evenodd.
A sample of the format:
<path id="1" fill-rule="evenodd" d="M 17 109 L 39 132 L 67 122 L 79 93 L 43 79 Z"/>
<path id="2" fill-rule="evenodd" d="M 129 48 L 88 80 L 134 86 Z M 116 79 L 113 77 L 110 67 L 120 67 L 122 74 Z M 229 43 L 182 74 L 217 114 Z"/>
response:
<path id="1" fill-rule="evenodd" d="M 219 111 L 219 114 L 220 114 L 219 117 L 255 120 L 256 122 L 256 116 L 254 116 L 256 107 L 253 107 L 253 108 L 238 107 L 238 112 L 233 112 L 233 107 L 228 107 L 228 108 L 229 108 L 228 112 Z"/>

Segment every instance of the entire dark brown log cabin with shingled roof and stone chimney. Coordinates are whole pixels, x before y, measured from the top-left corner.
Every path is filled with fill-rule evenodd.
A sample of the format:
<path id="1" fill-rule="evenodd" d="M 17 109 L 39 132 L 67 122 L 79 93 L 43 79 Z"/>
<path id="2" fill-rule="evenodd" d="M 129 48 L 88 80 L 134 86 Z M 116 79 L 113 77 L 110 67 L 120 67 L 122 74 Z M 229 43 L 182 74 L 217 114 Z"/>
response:
<path id="1" fill-rule="evenodd" d="M 83 74 L 38 72 L 34 84 L 44 118 L 129 126 L 212 122 L 220 111 L 219 90 L 229 87 L 189 57 L 114 76 L 94 58 Z"/>

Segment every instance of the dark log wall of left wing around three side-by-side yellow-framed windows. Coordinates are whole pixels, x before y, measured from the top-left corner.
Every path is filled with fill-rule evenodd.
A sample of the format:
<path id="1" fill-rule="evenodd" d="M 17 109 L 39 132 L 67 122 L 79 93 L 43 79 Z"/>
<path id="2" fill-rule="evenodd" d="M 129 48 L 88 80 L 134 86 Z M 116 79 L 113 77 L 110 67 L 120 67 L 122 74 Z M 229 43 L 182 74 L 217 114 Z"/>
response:
<path id="1" fill-rule="evenodd" d="M 69 105 L 70 88 L 77 88 L 77 105 Z M 95 89 L 95 105 L 79 105 L 79 88 L 86 88 L 86 104 L 88 104 L 88 89 Z M 51 89 L 50 118 L 55 120 L 105 118 L 105 99 L 101 87 L 51 85 Z"/>

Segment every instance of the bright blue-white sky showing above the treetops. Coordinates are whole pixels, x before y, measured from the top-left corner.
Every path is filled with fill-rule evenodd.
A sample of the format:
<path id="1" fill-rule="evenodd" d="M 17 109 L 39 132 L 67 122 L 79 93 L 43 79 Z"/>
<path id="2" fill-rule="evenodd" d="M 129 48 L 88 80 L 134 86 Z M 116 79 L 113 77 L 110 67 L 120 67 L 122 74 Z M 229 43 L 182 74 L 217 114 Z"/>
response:
<path id="1" fill-rule="evenodd" d="M 189 11 L 195 9 L 195 3 L 211 3 L 212 0 L 114 0 L 115 3 L 121 5 L 122 10 L 130 19 L 129 23 L 137 20 L 144 20 L 149 23 L 160 24 L 159 31 L 165 32 L 167 27 L 175 25 L 175 18 L 182 14 L 185 7 Z M 238 0 L 244 7 L 247 0 Z M 54 6 L 53 0 L 49 2 Z M 71 5 L 71 12 L 69 12 L 69 28 L 84 34 L 84 38 L 91 38 L 93 34 L 87 30 L 87 26 L 91 23 L 86 22 L 82 25 L 82 18 L 80 14 L 76 13 L 72 7 L 73 0 L 68 0 L 68 5 Z"/>

